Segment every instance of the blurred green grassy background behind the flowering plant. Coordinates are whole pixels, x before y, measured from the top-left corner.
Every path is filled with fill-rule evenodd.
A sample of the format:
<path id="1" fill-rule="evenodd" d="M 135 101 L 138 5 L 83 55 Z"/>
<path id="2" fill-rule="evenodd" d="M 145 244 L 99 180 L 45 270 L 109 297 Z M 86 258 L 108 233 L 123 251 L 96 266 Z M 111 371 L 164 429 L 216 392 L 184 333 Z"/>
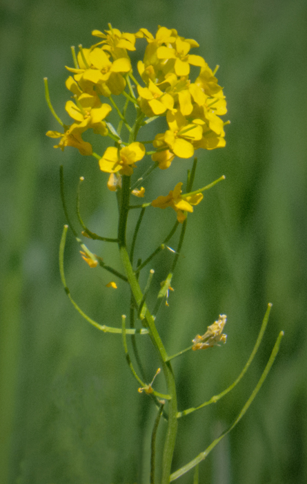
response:
<path id="1" fill-rule="evenodd" d="M 244 380 L 217 404 L 180 421 L 174 470 L 235 419 L 283 329 L 264 387 L 201 463 L 199 482 L 306 483 L 306 1 L 2 0 L 0 9 L 0 483 L 148 484 L 148 467 L 140 461 L 148 457 L 155 409 L 137 393 L 121 338 L 86 323 L 59 278 L 65 223 L 59 165 L 72 213 L 78 178 L 85 176 L 81 212 L 105 236 L 116 233 L 114 195 L 106 193 L 106 176 L 94 158 L 55 150 L 45 136 L 58 127 L 46 106 L 43 77 L 55 110 L 68 122 L 64 66 L 72 65 L 70 46 L 92 45 L 90 32 L 108 22 L 124 32 L 146 27 L 154 34 L 159 24 L 196 39 L 197 53 L 211 68 L 220 65 L 217 77 L 228 101 L 226 148 L 200 153 L 197 186 L 222 174 L 226 181 L 206 192 L 189 217 L 175 292 L 158 322 L 170 354 L 222 313 L 228 342 L 174 360 L 180 410 L 235 380 L 273 303 L 264 344 Z M 177 160 L 167 172 L 155 172 L 148 199 L 168 193 L 189 167 Z M 172 211 L 148 211 L 141 257 L 161 243 L 174 218 Z M 89 247 L 121 268 L 115 247 Z M 152 264 L 157 281 L 171 259 L 163 253 Z M 112 277 L 81 261 L 71 235 L 66 276 L 83 310 L 101 324 L 120 326 L 128 311 L 126 286 L 106 289 Z M 158 363 L 142 341 L 150 381 Z M 162 382 L 157 377 L 163 390 Z M 192 474 L 178 482 L 191 483 Z"/>

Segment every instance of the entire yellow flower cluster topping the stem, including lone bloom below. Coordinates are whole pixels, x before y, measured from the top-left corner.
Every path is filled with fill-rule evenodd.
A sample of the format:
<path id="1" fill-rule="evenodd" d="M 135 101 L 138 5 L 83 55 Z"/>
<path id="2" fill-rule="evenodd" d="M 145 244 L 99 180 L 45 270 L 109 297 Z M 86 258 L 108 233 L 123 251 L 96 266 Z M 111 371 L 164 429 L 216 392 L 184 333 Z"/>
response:
<path id="1" fill-rule="evenodd" d="M 66 80 L 72 100 L 66 102 L 65 109 L 73 121 L 66 125 L 55 115 L 63 132 L 46 133 L 50 138 L 60 138 L 55 148 L 63 151 L 66 146 L 72 146 L 82 155 L 98 158 L 101 171 L 110 174 L 108 188 L 116 191 L 121 187 L 121 176 L 132 175 L 136 162 L 146 155 L 146 143 L 152 144 L 154 150 L 150 155 L 160 169 L 170 167 L 175 156 L 190 158 L 196 149 L 225 146 L 225 123 L 220 116 L 227 112 L 226 100 L 215 72 L 203 57 L 190 54 L 192 48 L 199 47 L 197 41 L 180 37 L 177 30 L 161 26 L 155 37 L 146 28 L 134 34 L 122 33 L 110 24 L 109 30 L 93 30 L 92 35 L 99 37 L 99 42 L 90 48 L 79 46 L 77 56 L 72 50 L 75 67 L 66 66 L 72 74 Z M 128 53 L 136 50 L 139 39 L 146 41 L 147 46 L 143 60 L 137 63 L 138 81 L 132 74 Z M 193 73 L 197 70 L 194 82 L 190 79 L 191 66 Z M 112 98 L 121 93 L 126 97 L 126 107 L 131 102 L 136 108 L 133 127 L 126 120 L 126 107 L 120 111 Z M 101 97 L 107 102 L 101 101 Z M 112 111 L 109 102 L 120 116 L 117 130 L 106 122 Z M 157 117 L 166 119 L 166 131 L 158 133 L 150 142 L 137 141 L 141 125 Z M 122 140 L 121 125 L 128 129 L 128 142 Z M 109 136 L 115 146 L 98 155 L 81 136 L 88 129 Z M 197 205 L 202 195 L 181 196 L 181 185 L 177 183 L 168 196 L 159 196 L 152 206 L 172 207 L 182 223 L 186 218 L 184 212 L 192 212 L 192 205 Z M 143 187 L 132 190 L 139 197 L 144 192 Z"/>

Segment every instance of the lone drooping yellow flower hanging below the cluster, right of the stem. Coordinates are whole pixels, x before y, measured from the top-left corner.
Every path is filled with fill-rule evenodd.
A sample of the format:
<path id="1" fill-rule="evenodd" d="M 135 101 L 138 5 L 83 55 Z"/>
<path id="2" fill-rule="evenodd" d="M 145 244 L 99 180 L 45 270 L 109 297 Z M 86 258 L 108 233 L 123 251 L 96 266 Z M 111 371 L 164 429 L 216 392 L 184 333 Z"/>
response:
<path id="1" fill-rule="evenodd" d="M 181 195 L 182 183 L 179 182 L 167 196 L 158 196 L 152 201 L 152 207 L 167 208 L 172 207 L 177 212 L 177 221 L 183 223 L 186 219 L 184 212 L 193 212 L 192 205 L 198 205 L 204 198 L 203 194 Z"/>

